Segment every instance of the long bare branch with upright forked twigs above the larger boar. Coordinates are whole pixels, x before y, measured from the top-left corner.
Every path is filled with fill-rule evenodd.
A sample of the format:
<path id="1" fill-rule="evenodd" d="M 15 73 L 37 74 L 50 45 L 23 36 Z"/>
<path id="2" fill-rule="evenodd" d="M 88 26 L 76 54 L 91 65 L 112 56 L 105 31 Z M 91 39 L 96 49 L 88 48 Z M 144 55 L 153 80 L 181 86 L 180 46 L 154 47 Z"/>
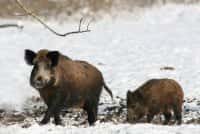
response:
<path id="1" fill-rule="evenodd" d="M 79 34 L 79 33 L 85 33 L 85 32 L 90 32 L 91 30 L 88 29 L 89 27 L 89 24 L 87 26 L 87 29 L 86 30 L 81 30 L 81 24 L 82 24 L 82 21 L 83 21 L 83 18 L 80 19 L 80 23 L 79 23 L 79 27 L 78 27 L 78 30 L 77 31 L 72 31 L 72 32 L 67 32 L 67 33 L 64 33 L 64 34 L 61 34 L 61 33 L 58 33 L 56 32 L 54 29 L 52 29 L 50 26 L 48 26 L 46 23 L 44 23 L 36 14 L 34 14 L 32 11 L 30 11 L 29 9 L 27 9 L 22 3 L 20 0 L 15 0 L 16 3 L 19 5 L 19 7 L 21 9 L 23 9 L 29 16 L 33 17 L 34 19 L 36 19 L 39 23 L 41 23 L 45 28 L 47 28 L 50 32 L 52 32 L 53 34 L 57 35 L 57 36 L 67 36 L 67 35 L 70 35 L 70 34 Z"/>

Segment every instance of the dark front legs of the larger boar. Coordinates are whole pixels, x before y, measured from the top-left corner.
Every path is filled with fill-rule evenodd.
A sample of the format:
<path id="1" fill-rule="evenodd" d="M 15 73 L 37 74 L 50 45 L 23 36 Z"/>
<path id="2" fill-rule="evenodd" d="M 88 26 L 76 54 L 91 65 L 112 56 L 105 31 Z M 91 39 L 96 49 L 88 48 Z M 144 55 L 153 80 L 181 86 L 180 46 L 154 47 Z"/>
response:
<path id="1" fill-rule="evenodd" d="M 51 99 L 47 104 L 48 108 L 45 113 L 45 116 L 40 122 L 41 125 L 47 124 L 50 121 L 51 116 L 54 116 L 56 125 L 62 124 L 59 114 L 64 104 L 64 99 L 65 99 L 64 93 L 62 93 L 61 91 L 56 92 L 56 94 L 51 97 Z"/>

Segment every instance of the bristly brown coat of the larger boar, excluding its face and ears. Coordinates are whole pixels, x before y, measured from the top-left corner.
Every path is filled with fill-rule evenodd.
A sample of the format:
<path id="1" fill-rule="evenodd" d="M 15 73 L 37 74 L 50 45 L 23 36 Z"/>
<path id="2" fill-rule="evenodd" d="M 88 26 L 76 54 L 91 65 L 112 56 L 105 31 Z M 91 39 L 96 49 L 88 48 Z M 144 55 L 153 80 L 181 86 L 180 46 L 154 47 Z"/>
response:
<path id="1" fill-rule="evenodd" d="M 51 54 L 51 51 L 40 50 L 34 61 L 50 62 L 51 59 L 47 56 L 49 53 Z M 107 87 L 102 73 L 85 61 L 72 60 L 56 51 L 54 53 L 59 54 L 56 66 L 52 67 L 52 72 L 55 74 L 52 78 L 54 83 L 38 89 L 48 106 L 41 124 L 49 122 L 51 116 L 54 116 L 56 124 L 60 124 L 59 113 L 63 107 L 79 107 L 86 110 L 89 124 L 92 125 L 97 120 L 98 102 L 102 88 Z M 112 96 L 112 92 L 109 93 Z"/>

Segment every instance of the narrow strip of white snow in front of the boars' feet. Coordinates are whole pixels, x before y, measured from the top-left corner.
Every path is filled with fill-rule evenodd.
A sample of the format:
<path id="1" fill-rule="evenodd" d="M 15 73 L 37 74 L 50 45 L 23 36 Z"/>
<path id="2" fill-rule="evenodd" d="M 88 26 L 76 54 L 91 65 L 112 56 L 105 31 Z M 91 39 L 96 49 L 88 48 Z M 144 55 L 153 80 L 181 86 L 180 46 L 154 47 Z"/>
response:
<path id="1" fill-rule="evenodd" d="M 35 124 L 28 129 L 17 125 L 2 127 L 1 134 L 199 134 L 199 125 L 159 126 L 152 124 L 98 124 L 94 127 L 60 127 L 55 125 L 39 126 Z"/>

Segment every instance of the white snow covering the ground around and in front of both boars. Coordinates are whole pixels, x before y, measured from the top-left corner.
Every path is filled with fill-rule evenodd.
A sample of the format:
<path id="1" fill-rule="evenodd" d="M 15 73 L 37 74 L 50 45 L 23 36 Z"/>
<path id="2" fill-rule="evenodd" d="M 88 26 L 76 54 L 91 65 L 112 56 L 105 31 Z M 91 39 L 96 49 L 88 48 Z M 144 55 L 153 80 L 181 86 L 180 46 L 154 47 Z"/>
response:
<path id="1" fill-rule="evenodd" d="M 186 100 L 200 101 L 200 5 L 167 5 L 148 9 L 139 16 L 131 13 L 119 16 L 93 23 L 90 33 L 66 38 L 53 35 L 35 22 L 24 22 L 22 31 L 1 29 L 0 109 L 23 111 L 26 100 L 38 96 L 29 85 L 31 67 L 24 62 L 27 48 L 59 50 L 74 59 L 89 61 L 102 71 L 115 96 L 125 98 L 128 89 L 134 90 L 151 78 L 167 77 L 182 85 Z M 77 28 L 75 22 L 49 24 L 61 32 Z M 175 70 L 160 70 L 164 66 Z M 101 98 L 101 101 L 110 101 L 104 92 Z M 197 103 L 188 103 L 185 107 L 200 112 Z M 199 118 L 199 114 L 191 116 Z M 53 124 L 41 127 L 35 123 L 29 128 L 18 124 L 0 126 L 0 134 L 12 133 L 199 134 L 200 125 L 97 123 L 93 127 Z"/>

